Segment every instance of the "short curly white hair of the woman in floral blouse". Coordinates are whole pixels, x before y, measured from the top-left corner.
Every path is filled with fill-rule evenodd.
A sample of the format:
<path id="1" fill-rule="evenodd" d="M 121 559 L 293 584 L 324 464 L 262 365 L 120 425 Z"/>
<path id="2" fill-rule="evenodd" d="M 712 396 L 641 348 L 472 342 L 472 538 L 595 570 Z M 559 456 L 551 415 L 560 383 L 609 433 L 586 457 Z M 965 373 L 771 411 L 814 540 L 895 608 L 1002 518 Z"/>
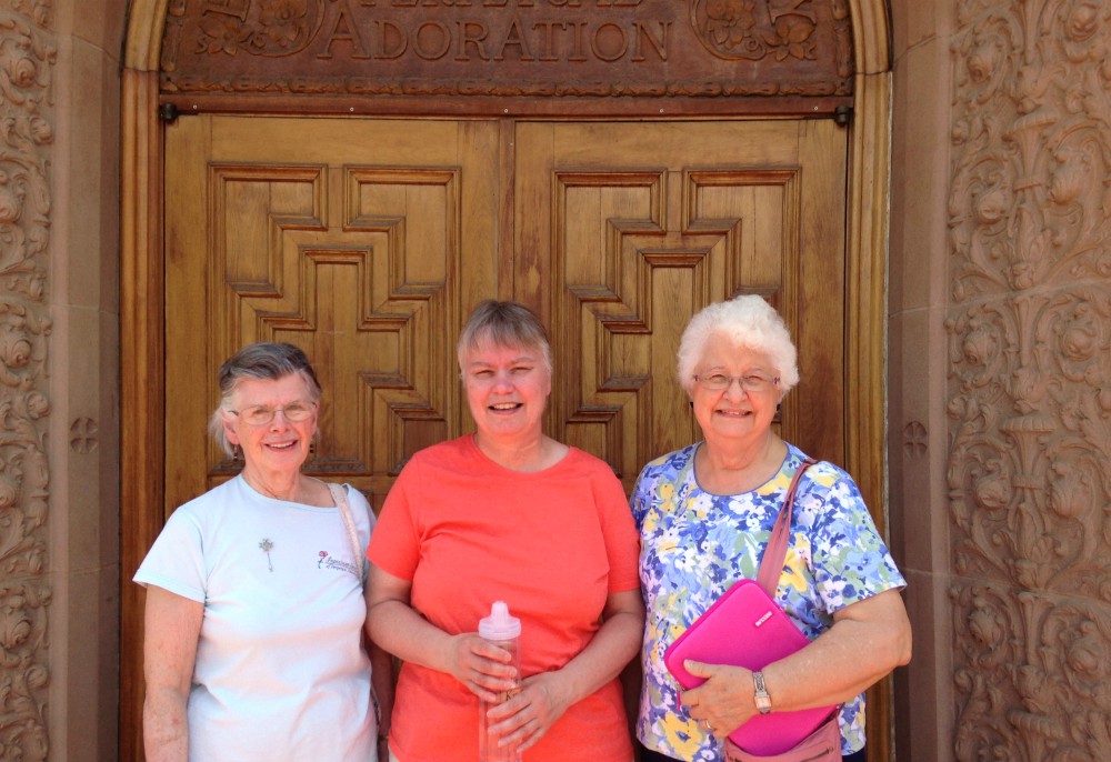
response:
<path id="1" fill-rule="evenodd" d="M 687 323 L 679 341 L 679 383 L 690 393 L 694 367 L 714 334 L 724 335 L 740 347 L 767 354 L 779 373 L 780 394 L 799 382 L 798 350 L 779 312 L 757 294 L 742 294 L 714 302 Z"/>

